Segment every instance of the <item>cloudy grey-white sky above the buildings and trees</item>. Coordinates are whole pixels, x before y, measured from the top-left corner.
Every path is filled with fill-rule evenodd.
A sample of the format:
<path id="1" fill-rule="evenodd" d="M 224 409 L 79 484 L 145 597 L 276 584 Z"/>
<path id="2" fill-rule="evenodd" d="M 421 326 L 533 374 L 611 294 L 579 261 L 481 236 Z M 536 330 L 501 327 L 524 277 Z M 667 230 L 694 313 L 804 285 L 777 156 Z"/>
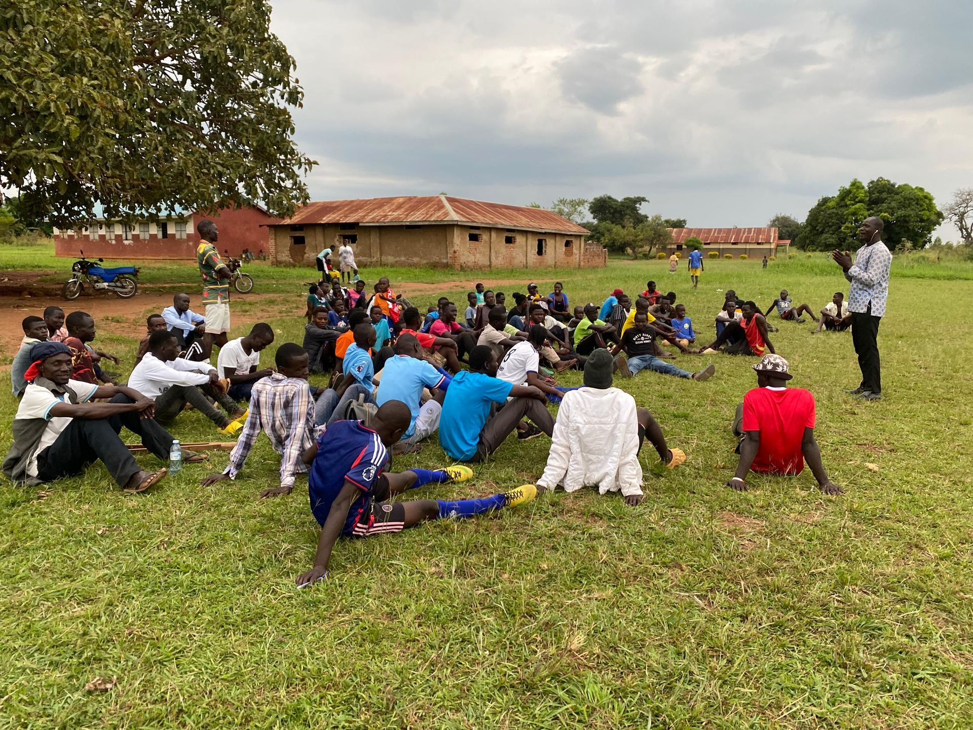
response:
<path id="1" fill-rule="evenodd" d="M 314 200 L 642 195 L 700 227 L 803 220 L 853 177 L 973 186 L 970 28 L 963 0 L 276 0 L 271 21 Z"/>

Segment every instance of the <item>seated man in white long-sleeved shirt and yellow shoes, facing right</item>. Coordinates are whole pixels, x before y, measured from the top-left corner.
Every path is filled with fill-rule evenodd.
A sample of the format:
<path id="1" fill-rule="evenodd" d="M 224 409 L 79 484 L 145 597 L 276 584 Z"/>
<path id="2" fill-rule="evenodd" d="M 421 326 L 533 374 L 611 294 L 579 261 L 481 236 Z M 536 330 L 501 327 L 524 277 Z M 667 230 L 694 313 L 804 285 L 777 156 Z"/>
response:
<path id="1" fill-rule="evenodd" d="M 208 362 L 179 357 L 179 342 L 172 332 L 156 330 L 149 335 L 148 351 L 128 376 L 128 387 L 156 402 L 156 420 L 169 423 L 190 403 L 216 423 L 220 433 L 233 435 L 242 428 L 244 411 L 227 395 L 229 383 L 221 381 Z M 208 396 L 208 397 L 207 397 Z M 226 414 L 210 403 L 219 402 Z"/>

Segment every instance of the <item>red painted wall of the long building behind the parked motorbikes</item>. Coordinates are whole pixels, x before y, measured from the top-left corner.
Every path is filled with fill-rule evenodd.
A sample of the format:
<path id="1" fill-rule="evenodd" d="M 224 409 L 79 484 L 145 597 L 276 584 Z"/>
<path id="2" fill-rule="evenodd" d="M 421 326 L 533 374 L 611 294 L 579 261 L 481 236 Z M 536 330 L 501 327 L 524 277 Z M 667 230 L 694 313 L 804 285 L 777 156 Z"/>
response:
<path id="1" fill-rule="evenodd" d="M 61 232 L 54 237 L 54 254 L 63 258 L 77 258 L 79 251 L 84 249 L 88 258 L 100 256 L 109 262 L 123 262 L 126 259 L 195 259 L 199 243 L 196 226 L 199 221 L 206 219 L 213 221 L 219 230 L 220 239 L 217 245 L 220 253 L 227 249 L 231 256 L 239 256 L 244 248 L 249 248 L 255 254 L 263 248 L 267 253 L 269 229 L 266 226 L 279 220 L 259 208 L 224 208 L 211 214 L 193 213 L 189 216 L 185 238 L 177 238 L 174 226 L 170 223 L 168 236 L 165 238 L 155 234 L 148 238 L 140 237 L 136 225 L 131 240 L 122 239 L 122 226 L 116 223 L 115 229 L 118 233 L 114 237 L 107 237 L 102 232 L 100 236 L 91 239 L 87 234 L 74 236 Z"/>

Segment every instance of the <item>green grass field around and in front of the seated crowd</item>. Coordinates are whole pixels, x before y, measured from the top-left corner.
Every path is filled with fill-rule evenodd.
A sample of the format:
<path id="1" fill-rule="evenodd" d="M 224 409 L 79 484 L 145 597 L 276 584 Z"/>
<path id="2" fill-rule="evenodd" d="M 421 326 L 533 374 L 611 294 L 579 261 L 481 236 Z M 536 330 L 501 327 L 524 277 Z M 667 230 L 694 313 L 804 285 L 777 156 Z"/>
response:
<path id="1" fill-rule="evenodd" d="M 0 249 L 0 269 L 19 265 L 5 263 L 13 255 Z M 295 271 L 260 272 L 294 292 L 270 320 L 278 342 L 301 342 Z M 393 281 L 408 289 L 407 275 Z M 814 310 L 847 290 L 820 257 L 766 271 L 706 262 L 698 291 L 660 262 L 526 275 L 545 293 L 557 275 L 572 303 L 655 278 L 702 337 L 728 287 L 761 308 L 785 287 Z M 458 278 L 414 280 L 428 276 Z M 664 473 L 643 449 L 642 506 L 591 490 L 547 494 L 488 519 L 341 541 L 332 576 L 311 591 L 294 588 L 318 533 L 306 482 L 259 500 L 278 479 L 264 440 L 240 478 L 205 490 L 199 480 L 226 453 L 138 496 L 100 466 L 43 491 L 4 482 L 0 727 L 968 728 L 970 276 L 897 263 L 877 403 L 843 394 L 858 382 L 849 334 L 775 322 L 792 385 L 816 396 L 840 497 L 818 493 L 809 472 L 755 476 L 749 493 L 722 486 L 736 464 L 734 408 L 755 384 L 752 359 L 722 355 L 676 360 L 716 363 L 707 383 L 654 373 L 621 382 L 689 456 Z M 126 351 L 126 370 L 141 330 L 110 343 Z M 4 451 L 15 407 L 5 389 Z M 172 430 L 216 437 L 196 413 Z M 414 496 L 531 482 L 548 443 L 509 440 L 474 481 Z M 434 441 L 394 469 L 446 463 Z M 98 676 L 117 684 L 86 691 Z"/>

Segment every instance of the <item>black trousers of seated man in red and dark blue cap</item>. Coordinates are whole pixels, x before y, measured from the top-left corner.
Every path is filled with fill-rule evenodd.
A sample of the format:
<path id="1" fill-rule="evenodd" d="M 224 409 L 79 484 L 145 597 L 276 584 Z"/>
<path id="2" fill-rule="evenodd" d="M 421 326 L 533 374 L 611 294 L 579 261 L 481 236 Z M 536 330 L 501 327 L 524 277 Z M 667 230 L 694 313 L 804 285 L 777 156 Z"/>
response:
<path id="1" fill-rule="evenodd" d="M 131 403 L 132 400 L 120 394 L 110 402 Z M 119 487 L 125 487 L 141 467 L 119 438 L 122 426 L 138 434 L 142 445 L 152 454 L 168 460 L 172 437 L 155 420 L 140 419 L 135 411 L 106 419 L 73 419 L 57 440 L 37 455 L 38 479 L 53 482 L 61 477 L 75 476 L 100 459 Z"/>

